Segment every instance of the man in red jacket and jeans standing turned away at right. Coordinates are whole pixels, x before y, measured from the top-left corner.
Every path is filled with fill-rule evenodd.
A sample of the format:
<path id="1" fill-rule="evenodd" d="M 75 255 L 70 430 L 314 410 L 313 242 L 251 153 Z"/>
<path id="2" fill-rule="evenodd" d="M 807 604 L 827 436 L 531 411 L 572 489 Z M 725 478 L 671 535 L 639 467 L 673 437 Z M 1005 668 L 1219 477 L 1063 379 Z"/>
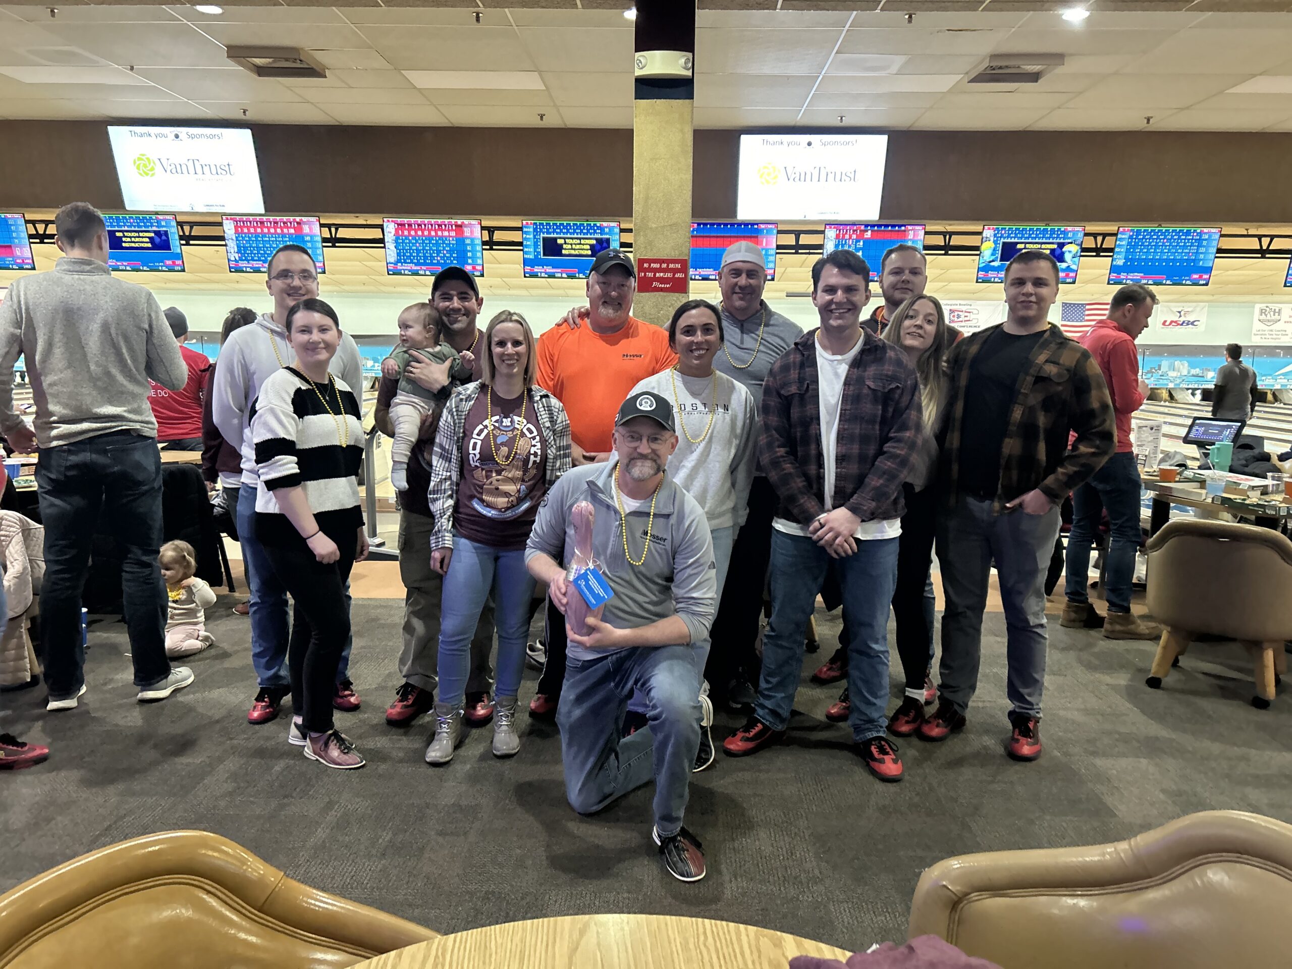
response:
<path id="1" fill-rule="evenodd" d="M 1162 629 L 1130 611 L 1130 580 L 1140 548 L 1140 466 L 1130 447 L 1130 415 L 1149 395 L 1140 376 L 1136 337 L 1149 327 L 1158 297 L 1146 286 L 1123 286 L 1112 295 L 1109 318 L 1096 323 L 1080 342 L 1103 371 L 1116 415 L 1118 450 L 1088 482 L 1072 492 L 1072 531 L 1067 537 L 1067 605 L 1059 623 L 1070 629 L 1098 629 L 1109 640 L 1156 640 Z M 1090 605 L 1090 543 L 1109 513 L 1109 561 L 1103 583 L 1109 615 Z"/>

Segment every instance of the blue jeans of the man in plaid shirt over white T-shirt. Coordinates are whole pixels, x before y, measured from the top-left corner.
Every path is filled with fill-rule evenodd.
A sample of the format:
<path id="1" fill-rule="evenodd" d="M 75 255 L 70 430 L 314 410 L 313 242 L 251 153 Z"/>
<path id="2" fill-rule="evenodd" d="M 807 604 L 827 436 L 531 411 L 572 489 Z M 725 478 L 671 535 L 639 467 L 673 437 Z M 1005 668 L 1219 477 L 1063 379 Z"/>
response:
<path id="1" fill-rule="evenodd" d="M 884 734 L 889 695 L 888 614 L 897 587 L 899 539 L 858 541 L 857 552 L 833 559 L 848 627 L 848 694 L 853 739 Z M 826 580 L 829 553 L 802 535 L 771 532 L 771 619 L 762 634 L 762 677 L 753 713 L 784 730 L 804 664 L 804 633 Z"/>

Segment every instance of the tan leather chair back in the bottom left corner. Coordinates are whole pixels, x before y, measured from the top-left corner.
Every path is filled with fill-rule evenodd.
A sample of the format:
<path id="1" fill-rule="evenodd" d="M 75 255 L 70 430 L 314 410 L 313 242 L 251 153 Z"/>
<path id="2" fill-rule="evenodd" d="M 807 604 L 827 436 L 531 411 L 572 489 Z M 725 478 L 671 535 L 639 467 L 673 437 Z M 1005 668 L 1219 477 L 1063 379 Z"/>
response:
<path id="1" fill-rule="evenodd" d="M 331 969 L 437 935 L 203 831 L 123 841 L 0 895 L 5 969 Z"/>

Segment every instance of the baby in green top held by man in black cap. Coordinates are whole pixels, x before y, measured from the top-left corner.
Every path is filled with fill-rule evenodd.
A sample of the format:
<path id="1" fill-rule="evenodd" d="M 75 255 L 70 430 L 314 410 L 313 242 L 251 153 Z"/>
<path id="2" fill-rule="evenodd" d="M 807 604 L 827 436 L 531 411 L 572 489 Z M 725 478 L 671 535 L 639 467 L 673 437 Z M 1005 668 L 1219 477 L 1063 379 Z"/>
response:
<path id="1" fill-rule="evenodd" d="M 390 446 L 390 483 L 395 491 L 408 490 L 408 456 L 417 443 L 417 433 L 430 408 L 443 403 L 460 384 L 475 380 L 472 367 L 475 358 L 470 351 L 457 353 L 441 341 L 439 311 L 429 302 L 415 302 L 399 314 L 399 346 L 381 362 L 381 376 L 399 380 L 399 389 L 390 402 L 390 422 L 395 439 Z M 444 363 L 450 360 L 448 384 L 432 391 L 408 376 L 412 360 Z"/>

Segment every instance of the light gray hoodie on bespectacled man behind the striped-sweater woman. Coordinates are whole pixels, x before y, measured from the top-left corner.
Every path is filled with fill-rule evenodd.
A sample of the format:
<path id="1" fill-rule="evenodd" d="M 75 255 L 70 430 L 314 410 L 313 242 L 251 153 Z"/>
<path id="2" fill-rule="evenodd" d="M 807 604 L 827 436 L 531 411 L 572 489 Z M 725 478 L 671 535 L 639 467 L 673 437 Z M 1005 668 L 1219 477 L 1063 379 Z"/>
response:
<path id="1" fill-rule="evenodd" d="M 256 487 L 258 481 L 256 446 L 247 422 L 251 403 L 269 375 L 295 358 L 296 354 L 287 342 L 287 331 L 274 322 L 270 313 L 260 314 L 260 319 L 249 327 L 235 329 L 220 348 L 220 366 L 216 367 L 214 385 L 209 390 L 211 416 L 224 439 L 242 451 L 243 484 L 249 487 Z M 363 363 L 358 344 L 345 331 L 341 332 L 341 346 L 328 370 L 345 381 L 362 407 Z"/>

